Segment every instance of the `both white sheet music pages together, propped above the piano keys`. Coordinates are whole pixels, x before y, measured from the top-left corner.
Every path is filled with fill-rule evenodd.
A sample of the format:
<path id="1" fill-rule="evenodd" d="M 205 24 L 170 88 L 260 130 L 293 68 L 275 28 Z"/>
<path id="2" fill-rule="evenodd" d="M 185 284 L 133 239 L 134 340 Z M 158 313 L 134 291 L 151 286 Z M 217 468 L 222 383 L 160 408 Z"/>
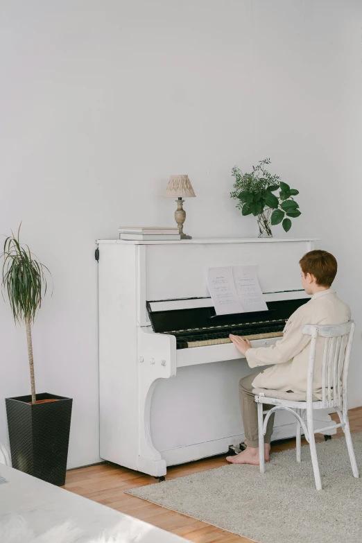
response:
<path id="1" fill-rule="evenodd" d="M 207 270 L 207 286 L 216 315 L 268 311 L 257 266 L 225 266 Z"/>

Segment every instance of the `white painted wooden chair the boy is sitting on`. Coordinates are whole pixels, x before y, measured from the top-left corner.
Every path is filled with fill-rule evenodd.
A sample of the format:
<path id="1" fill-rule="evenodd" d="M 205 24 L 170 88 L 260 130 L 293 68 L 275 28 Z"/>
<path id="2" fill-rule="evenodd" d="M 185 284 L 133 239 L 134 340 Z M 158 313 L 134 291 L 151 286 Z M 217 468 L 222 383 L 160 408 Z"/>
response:
<path id="1" fill-rule="evenodd" d="M 300 433 L 301 426 L 304 430 L 304 437 L 309 442 L 311 449 L 311 461 L 313 465 L 314 479 L 316 480 L 317 490 L 322 490 L 320 481 L 320 472 L 316 451 L 315 433 L 323 433 L 332 428 L 343 429 L 345 440 L 347 442 L 348 454 L 352 466 L 354 477 L 359 477 L 359 470 L 356 465 L 354 449 L 352 445 L 350 424 L 347 411 L 347 379 L 348 366 L 350 363 L 350 354 L 352 348 L 354 322 L 350 320 L 343 325 L 319 326 L 304 325 L 303 334 L 311 336 L 311 348 L 309 354 L 309 365 L 307 375 L 307 394 L 302 398 L 298 393 L 285 393 L 279 390 L 268 390 L 255 388 L 255 402 L 258 404 L 258 423 L 259 423 L 259 461 L 260 472 L 264 473 L 264 436 L 266 434 L 266 425 L 270 415 L 279 409 L 285 409 L 293 413 L 297 419 L 296 441 L 297 441 L 297 462 L 300 462 Z M 324 338 L 324 352 L 322 359 L 322 399 L 318 400 L 313 396 L 313 373 L 314 361 L 316 358 L 317 339 Z M 282 399 L 284 398 L 284 399 Z M 287 398 L 287 399 L 285 399 Z M 305 401 L 301 401 L 304 399 Z M 264 411 L 263 404 L 274 405 L 269 411 Z M 338 413 L 339 422 L 333 426 L 324 428 L 313 428 L 313 409 L 334 408 Z M 302 411 L 307 411 L 307 426 L 302 418 Z M 263 422 L 263 415 L 266 413 Z"/>

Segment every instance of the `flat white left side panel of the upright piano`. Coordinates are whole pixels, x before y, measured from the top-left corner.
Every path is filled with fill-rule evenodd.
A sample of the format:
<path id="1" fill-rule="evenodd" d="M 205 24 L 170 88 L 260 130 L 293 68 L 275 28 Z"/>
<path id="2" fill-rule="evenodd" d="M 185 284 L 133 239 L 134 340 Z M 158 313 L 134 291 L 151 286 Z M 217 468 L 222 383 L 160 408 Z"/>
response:
<path id="1" fill-rule="evenodd" d="M 102 244 L 98 265 L 100 455 L 131 469 L 138 457 L 136 252 L 136 245 Z"/>

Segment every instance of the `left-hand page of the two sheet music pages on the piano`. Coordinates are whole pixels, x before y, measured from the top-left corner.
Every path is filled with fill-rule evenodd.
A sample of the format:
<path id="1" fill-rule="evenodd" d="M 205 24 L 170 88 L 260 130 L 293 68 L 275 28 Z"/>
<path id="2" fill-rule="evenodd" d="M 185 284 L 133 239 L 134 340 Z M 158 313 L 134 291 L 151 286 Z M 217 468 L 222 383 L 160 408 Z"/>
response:
<path id="1" fill-rule="evenodd" d="M 232 267 L 209 268 L 207 270 L 207 286 L 214 303 L 216 315 L 243 313 L 234 282 Z"/>

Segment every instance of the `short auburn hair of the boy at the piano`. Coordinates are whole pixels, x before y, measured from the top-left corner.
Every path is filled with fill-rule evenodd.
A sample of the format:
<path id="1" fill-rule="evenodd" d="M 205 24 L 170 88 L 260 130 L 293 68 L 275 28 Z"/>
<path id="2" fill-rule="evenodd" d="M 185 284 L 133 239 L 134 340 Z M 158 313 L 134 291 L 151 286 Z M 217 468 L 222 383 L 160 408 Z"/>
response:
<path id="1" fill-rule="evenodd" d="M 331 286 L 337 273 L 337 261 L 330 252 L 315 250 L 307 252 L 299 261 L 304 275 L 316 277 L 320 286 Z"/>

